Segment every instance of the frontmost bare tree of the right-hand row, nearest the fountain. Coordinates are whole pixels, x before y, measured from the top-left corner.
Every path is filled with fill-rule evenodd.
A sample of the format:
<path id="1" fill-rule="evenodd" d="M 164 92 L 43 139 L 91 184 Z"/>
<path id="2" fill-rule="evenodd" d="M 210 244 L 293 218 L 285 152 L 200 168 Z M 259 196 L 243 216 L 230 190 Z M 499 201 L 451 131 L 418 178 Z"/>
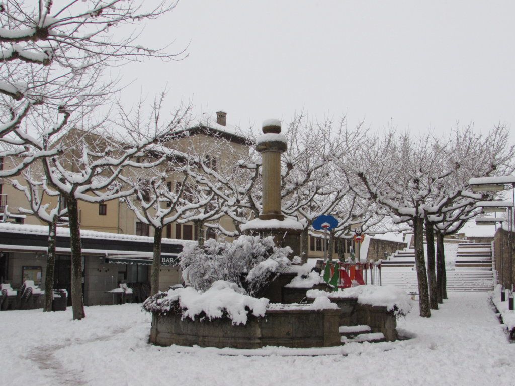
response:
<path id="1" fill-rule="evenodd" d="M 356 134 L 356 131 L 346 134 L 349 152 L 345 171 L 350 184 L 358 195 L 388 208 L 394 222 L 409 222 L 413 226 L 420 315 L 430 317 L 423 250 L 424 203 L 431 186 L 452 170 L 442 164 L 441 154 L 434 151 L 428 138 L 411 141 L 408 135 L 397 137 L 389 132 L 383 139 L 367 136 L 356 146 Z"/>

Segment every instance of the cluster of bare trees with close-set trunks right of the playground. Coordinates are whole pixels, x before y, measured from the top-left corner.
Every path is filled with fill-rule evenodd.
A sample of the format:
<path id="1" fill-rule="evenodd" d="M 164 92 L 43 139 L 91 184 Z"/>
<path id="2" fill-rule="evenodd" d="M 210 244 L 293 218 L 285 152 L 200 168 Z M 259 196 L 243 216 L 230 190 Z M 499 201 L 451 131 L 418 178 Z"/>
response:
<path id="1" fill-rule="evenodd" d="M 478 213 L 475 203 L 492 195 L 473 193 L 468 180 L 513 171 L 509 131 L 497 126 L 482 135 L 472 127 L 456 128 L 447 137 L 433 134 L 346 133 L 347 152 L 342 169 L 352 190 L 375 202 L 376 212 L 414 232 L 420 315 L 447 297 L 443 237 L 457 232 Z M 424 259 L 424 232 L 427 267 Z M 435 235 L 437 240 L 435 257 Z M 435 262 L 436 258 L 436 262 Z"/>

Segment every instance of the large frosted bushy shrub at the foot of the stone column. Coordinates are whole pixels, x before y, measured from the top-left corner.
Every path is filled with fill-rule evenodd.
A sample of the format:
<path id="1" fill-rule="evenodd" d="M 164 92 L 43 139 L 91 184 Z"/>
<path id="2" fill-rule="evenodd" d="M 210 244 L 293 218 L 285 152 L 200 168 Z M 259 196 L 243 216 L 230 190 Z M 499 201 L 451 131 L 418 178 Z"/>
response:
<path id="1" fill-rule="evenodd" d="M 224 280 L 255 294 L 291 265 L 290 253 L 289 247 L 276 247 L 270 236 L 244 235 L 232 243 L 209 239 L 202 247 L 186 245 L 179 258 L 184 282 L 197 290 Z"/>

